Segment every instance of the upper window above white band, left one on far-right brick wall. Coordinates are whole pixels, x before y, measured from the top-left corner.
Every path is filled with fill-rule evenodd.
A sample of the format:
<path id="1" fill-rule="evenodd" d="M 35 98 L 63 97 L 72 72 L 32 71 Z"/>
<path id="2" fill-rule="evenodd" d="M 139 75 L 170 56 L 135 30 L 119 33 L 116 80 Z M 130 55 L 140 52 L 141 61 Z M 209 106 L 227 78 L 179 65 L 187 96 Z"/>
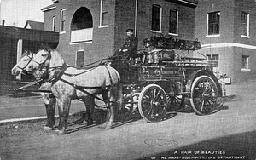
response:
<path id="1" fill-rule="evenodd" d="M 218 35 L 220 12 L 212 12 L 207 15 L 208 15 L 207 34 Z"/>

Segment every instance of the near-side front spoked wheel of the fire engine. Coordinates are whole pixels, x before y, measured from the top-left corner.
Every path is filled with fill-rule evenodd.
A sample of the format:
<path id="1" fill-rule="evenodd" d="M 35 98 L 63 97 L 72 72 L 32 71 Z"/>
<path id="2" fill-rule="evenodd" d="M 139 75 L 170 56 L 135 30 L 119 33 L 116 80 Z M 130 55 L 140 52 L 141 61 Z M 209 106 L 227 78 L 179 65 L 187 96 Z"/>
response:
<path id="1" fill-rule="evenodd" d="M 141 116 L 148 123 L 158 122 L 165 117 L 166 106 L 166 92 L 159 85 L 149 84 L 142 90 L 138 108 Z"/>

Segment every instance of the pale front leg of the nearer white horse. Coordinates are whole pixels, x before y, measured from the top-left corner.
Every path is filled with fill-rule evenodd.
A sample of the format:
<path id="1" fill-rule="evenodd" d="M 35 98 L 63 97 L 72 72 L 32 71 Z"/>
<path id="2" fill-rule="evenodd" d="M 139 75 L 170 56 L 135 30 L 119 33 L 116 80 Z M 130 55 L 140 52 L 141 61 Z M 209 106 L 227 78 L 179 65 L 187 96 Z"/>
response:
<path id="1" fill-rule="evenodd" d="M 61 99 L 57 99 L 57 106 L 59 108 L 59 126 L 56 130 L 58 132 L 58 135 L 62 135 L 66 133 L 67 129 L 67 118 L 69 114 L 69 108 L 71 104 L 71 98 L 70 97 L 61 97 Z"/>

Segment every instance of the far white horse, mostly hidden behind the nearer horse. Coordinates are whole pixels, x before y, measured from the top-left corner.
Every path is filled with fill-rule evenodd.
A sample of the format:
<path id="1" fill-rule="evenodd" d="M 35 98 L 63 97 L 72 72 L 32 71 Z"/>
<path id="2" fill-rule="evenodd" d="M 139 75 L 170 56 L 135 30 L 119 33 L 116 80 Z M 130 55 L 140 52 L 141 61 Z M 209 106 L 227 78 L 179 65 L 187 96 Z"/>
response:
<path id="1" fill-rule="evenodd" d="M 32 61 L 33 57 L 35 56 L 34 53 L 25 51 L 23 53 L 23 56 L 18 61 L 18 63 L 12 68 L 11 72 L 14 76 L 18 76 L 21 73 L 24 73 L 24 69 L 29 64 L 29 62 Z M 39 90 L 49 90 L 50 91 L 51 84 L 48 82 L 44 82 L 41 84 Z M 46 108 L 46 115 L 47 115 L 47 123 L 44 126 L 44 130 L 52 129 L 55 125 L 55 97 L 51 93 L 47 92 L 40 92 L 43 100 L 44 100 L 44 106 Z"/>

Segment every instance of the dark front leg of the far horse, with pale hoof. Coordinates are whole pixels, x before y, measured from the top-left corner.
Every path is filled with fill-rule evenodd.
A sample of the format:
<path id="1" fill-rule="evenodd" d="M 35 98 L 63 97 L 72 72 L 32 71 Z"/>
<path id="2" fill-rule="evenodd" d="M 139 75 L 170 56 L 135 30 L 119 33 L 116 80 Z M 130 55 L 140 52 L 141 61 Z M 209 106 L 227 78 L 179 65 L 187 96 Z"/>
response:
<path id="1" fill-rule="evenodd" d="M 50 94 L 42 94 L 47 115 L 47 123 L 44 130 L 51 130 L 55 125 L 55 97 Z"/>

